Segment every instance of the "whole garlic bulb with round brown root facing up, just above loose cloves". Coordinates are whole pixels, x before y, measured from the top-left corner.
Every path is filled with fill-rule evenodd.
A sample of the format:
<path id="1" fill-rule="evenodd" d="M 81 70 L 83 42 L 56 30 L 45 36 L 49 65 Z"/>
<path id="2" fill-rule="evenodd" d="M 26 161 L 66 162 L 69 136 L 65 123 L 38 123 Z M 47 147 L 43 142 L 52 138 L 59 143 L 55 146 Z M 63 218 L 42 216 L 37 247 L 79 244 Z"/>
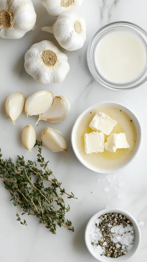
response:
<path id="1" fill-rule="evenodd" d="M 24 66 L 26 72 L 42 84 L 62 82 L 69 72 L 67 55 L 47 40 L 30 47 Z"/>

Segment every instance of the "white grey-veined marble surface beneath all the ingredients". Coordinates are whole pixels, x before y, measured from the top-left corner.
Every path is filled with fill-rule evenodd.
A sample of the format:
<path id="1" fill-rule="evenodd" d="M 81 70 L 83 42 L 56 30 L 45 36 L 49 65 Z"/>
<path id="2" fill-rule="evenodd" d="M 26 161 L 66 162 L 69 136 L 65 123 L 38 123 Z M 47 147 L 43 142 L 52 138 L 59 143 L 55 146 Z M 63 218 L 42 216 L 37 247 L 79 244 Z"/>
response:
<path id="1" fill-rule="evenodd" d="M 84 243 L 84 230 L 90 217 L 106 207 L 118 207 L 130 212 L 137 221 L 144 221 L 141 227 L 141 245 L 137 254 L 129 262 L 146 262 L 147 252 L 147 176 L 146 176 L 146 97 L 147 83 L 131 91 L 109 91 L 94 82 L 87 63 L 86 51 L 90 40 L 96 31 L 108 22 L 128 20 L 147 30 L 146 0 L 83 0 L 83 5 L 76 8 L 83 16 L 87 25 L 87 40 L 81 50 L 64 52 L 68 55 L 70 72 L 61 84 L 41 85 L 34 81 L 24 70 L 24 54 L 29 47 L 41 40 L 56 42 L 52 35 L 41 32 L 42 26 L 51 25 L 56 18 L 50 17 L 39 0 L 33 1 L 37 13 L 38 28 L 28 32 L 20 40 L 0 39 L 0 146 L 3 157 L 25 155 L 21 145 L 20 134 L 26 124 L 34 124 L 36 117 L 27 119 L 25 114 L 17 120 L 14 126 L 5 116 L 4 100 L 12 91 L 21 91 L 25 97 L 32 92 L 48 89 L 55 95 L 64 95 L 71 103 L 71 113 L 64 123 L 50 124 L 59 129 L 68 142 L 68 156 L 64 153 L 54 153 L 43 148 L 43 154 L 50 160 L 49 166 L 53 173 L 62 181 L 69 192 L 72 191 L 78 200 L 66 199 L 71 211 L 67 213 L 75 227 L 72 233 L 65 228 L 57 228 L 57 236 L 52 235 L 44 225 L 40 225 L 32 216 L 24 216 L 28 226 L 22 226 L 16 221 L 15 208 L 10 202 L 10 195 L 4 189 L 0 180 L 0 261 L 1 262 L 94 262 Z M 70 132 L 79 114 L 87 107 L 99 101 L 117 101 L 130 107 L 139 117 L 143 128 L 143 143 L 136 159 L 126 169 L 115 176 L 116 184 L 110 186 L 105 176 L 92 173 L 84 168 L 76 159 L 70 144 Z M 40 121 L 36 126 L 39 134 L 48 124 Z M 28 153 L 32 158 L 34 154 Z M 111 179 L 113 175 L 110 176 Z M 98 182 L 98 179 L 101 179 Z M 118 186 L 118 181 L 124 181 L 124 187 Z M 105 187 L 110 191 L 105 192 Z M 124 196 L 123 199 L 117 197 Z M 110 198 L 108 198 L 110 197 Z M 66 198 L 66 197 L 65 197 Z"/>

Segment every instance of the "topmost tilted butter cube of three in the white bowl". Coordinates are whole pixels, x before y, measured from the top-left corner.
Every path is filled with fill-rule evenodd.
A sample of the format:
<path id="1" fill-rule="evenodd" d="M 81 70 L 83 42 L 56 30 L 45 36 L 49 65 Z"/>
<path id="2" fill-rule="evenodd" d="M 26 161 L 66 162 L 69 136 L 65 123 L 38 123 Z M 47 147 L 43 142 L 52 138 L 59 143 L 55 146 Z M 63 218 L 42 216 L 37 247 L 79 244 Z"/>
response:
<path id="1" fill-rule="evenodd" d="M 89 127 L 94 131 L 101 131 L 106 135 L 110 135 L 113 127 L 117 124 L 115 120 L 102 112 L 97 112 L 93 117 Z"/>

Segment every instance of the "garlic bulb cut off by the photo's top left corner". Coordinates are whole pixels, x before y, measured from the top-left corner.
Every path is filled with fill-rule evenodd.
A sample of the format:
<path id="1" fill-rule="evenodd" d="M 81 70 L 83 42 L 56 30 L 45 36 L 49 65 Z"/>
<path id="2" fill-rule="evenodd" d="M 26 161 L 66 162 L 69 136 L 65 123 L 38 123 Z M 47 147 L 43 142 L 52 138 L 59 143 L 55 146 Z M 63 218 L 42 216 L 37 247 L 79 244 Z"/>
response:
<path id="1" fill-rule="evenodd" d="M 0 0 L 0 37 L 19 39 L 34 28 L 35 23 L 31 0 Z"/>

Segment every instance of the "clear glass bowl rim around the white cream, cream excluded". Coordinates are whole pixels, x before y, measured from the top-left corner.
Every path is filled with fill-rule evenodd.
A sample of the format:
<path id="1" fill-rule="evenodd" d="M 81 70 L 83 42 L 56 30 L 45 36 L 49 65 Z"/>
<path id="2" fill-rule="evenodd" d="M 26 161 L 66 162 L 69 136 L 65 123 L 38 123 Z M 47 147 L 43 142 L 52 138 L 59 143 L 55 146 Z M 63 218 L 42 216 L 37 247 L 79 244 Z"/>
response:
<path id="1" fill-rule="evenodd" d="M 143 71 L 137 78 L 128 83 L 118 84 L 108 81 L 100 74 L 95 62 L 95 51 L 100 40 L 107 34 L 116 31 L 125 31 L 134 34 L 142 41 L 146 50 L 146 64 Z M 147 80 L 147 32 L 143 30 L 140 26 L 126 21 L 117 21 L 107 24 L 100 28 L 99 31 L 97 31 L 91 43 L 89 44 L 87 52 L 87 62 L 90 73 L 94 77 L 95 81 L 101 86 L 116 91 L 123 91 L 136 88 Z"/>

